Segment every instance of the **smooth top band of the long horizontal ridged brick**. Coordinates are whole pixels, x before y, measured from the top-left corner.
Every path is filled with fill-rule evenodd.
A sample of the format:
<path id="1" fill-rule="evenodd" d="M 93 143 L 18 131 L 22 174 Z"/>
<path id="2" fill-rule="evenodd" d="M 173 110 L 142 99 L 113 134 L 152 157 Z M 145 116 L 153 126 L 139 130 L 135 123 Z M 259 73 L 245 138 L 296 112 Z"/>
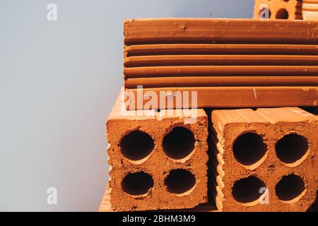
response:
<path id="1" fill-rule="evenodd" d="M 261 33 L 261 35 L 260 35 Z M 124 20 L 124 44 L 317 44 L 317 22 L 215 18 Z"/>

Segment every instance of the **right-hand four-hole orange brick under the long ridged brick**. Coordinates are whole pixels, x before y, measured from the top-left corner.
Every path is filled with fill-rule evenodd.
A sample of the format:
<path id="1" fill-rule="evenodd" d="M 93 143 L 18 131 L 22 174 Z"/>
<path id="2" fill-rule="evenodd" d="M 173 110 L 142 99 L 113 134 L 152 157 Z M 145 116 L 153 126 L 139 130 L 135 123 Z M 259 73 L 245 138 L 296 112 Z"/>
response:
<path id="1" fill-rule="evenodd" d="M 305 211 L 316 198 L 318 117 L 298 107 L 213 110 L 212 189 L 223 211 Z M 260 189 L 269 189 L 269 204 Z M 262 190 L 261 192 L 264 192 Z"/>

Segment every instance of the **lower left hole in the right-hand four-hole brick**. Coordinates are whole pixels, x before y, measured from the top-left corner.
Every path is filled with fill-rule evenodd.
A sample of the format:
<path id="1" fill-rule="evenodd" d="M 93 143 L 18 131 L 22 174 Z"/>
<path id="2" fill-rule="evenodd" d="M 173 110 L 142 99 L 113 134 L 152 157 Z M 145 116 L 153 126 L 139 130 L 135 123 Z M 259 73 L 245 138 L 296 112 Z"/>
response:
<path id="1" fill-rule="evenodd" d="M 232 187 L 232 196 L 240 203 L 251 203 L 257 201 L 261 197 L 261 188 L 266 187 L 261 179 L 250 176 L 235 182 Z"/>

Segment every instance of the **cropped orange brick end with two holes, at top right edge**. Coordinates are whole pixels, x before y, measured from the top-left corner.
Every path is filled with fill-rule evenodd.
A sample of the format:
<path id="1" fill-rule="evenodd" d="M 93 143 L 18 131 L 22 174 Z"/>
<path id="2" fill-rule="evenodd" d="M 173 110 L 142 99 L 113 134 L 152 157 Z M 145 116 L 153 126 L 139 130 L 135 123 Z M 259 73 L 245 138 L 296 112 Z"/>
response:
<path id="1" fill-rule="evenodd" d="M 260 11 L 264 8 L 264 6 L 269 7 L 269 19 L 301 19 L 302 2 L 300 0 L 255 0 L 253 18 L 259 19 Z M 280 10 L 287 11 L 288 18 L 285 18 L 285 15 L 280 14 Z"/>

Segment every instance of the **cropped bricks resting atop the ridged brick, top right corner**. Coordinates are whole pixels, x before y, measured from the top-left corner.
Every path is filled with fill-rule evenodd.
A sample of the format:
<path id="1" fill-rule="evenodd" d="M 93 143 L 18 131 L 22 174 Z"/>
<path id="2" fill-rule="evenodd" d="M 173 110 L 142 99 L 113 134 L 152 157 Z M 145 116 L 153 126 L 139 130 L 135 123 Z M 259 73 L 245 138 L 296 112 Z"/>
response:
<path id="1" fill-rule="evenodd" d="M 317 0 L 255 0 L 255 19 L 318 20 Z"/>

